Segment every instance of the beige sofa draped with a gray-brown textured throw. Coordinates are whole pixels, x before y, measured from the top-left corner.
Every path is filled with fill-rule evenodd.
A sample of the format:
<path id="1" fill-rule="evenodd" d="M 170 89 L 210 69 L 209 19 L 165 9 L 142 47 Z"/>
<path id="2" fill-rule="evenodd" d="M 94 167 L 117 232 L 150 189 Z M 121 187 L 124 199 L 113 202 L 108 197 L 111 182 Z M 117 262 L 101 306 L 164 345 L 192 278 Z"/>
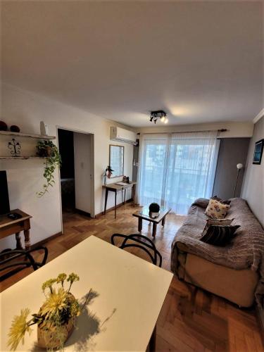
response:
<path id="1" fill-rule="evenodd" d="M 206 201 L 206 200 L 204 200 Z M 249 307 L 252 306 L 255 301 L 255 291 L 258 285 L 260 275 L 258 270 L 252 270 L 252 265 L 254 261 L 254 256 L 247 254 L 245 257 L 245 268 L 242 263 L 243 260 L 237 259 L 239 263 L 236 263 L 236 258 L 234 260 L 225 260 L 230 258 L 233 253 L 236 253 L 235 249 L 237 249 L 237 253 L 239 253 L 237 258 L 244 256 L 244 253 L 239 252 L 241 246 L 243 246 L 244 237 L 254 236 L 256 231 L 253 231 L 253 234 L 245 234 L 246 225 L 249 222 L 245 222 L 241 225 L 242 228 L 240 233 L 238 232 L 237 237 L 241 235 L 239 239 L 237 239 L 236 243 L 230 244 L 227 249 L 225 248 L 215 248 L 215 246 L 206 245 L 206 251 L 204 251 L 205 256 L 203 256 L 203 249 L 199 249 L 200 244 L 199 238 L 201 237 L 201 231 L 206 223 L 206 215 L 204 214 L 204 207 L 206 203 L 200 207 L 195 203 L 192 206 L 189 214 L 187 215 L 187 219 L 184 222 L 184 225 L 177 232 L 174 241 L 172 242 L 172 256 L 171 256 L 171 268 L 172 271 L 180 278 L 190 284 L 194 284 L 197 287 L 201 287 L 206 291 L 210 291 L 213 294 L 218 296 L 227 298 L 229 301 L 233 303 L 237 303 L 241 307 Z M 244 208 L 246 202 L 239 203 L 239 211 L 241 212 L 241 206 Z M 233 199 L 231 203 L 232 212 L 230 211 L 230 215 L 228 218 L 234 218 L 236 213 L 236 201 Z M 230 209 L 231 209 L 230 208 Z M 248 208 L 249 209 L 249 208 Z M 250 210 L 249 210 L 250 211 Z M 246 210 L 247 213 L 247 210 Z M 252 213 L 251 213 L 252 214 Z M 247 214 L 242 214 L 242 216 L 246 216 Z M 241 216 L 239 216 L 239 220 L 241 220 Z M 243 222 L 244 220 L 241 220 Z M 255 221 L 256 218 L 255 218 Z M 235 220 L 233 220 L 235 222 Z M 256 225 L 256 224 L 255 224 Z M 259 224 L 258 224 L 259 225 Z M 257 226 L 258 231 L 263 231 L 263 229 Z M 191 227 L 194 226 L 194 231 L 190 231 Z M 256 230 L 256 229 L 254 229 Z M 264 231 L 263 234 L 264 239 Z M 191 241 L 188 241 L 191 239 Z M 241 242 L 242 241 L 242 242 Z M 190 242 L 190 243 L 189 243 Z M 241 242 L 241 243 L 240 243 Z M 234 248 L 232 248 L 234 247 Z M 251 246 L 249 245 L 249 251 L 251 251 Z M 243 249 L 244 251 L 245 249 Z M 227 257 L 225 258 L 225 251 L 227 251 Z M 212 255 L 210 255 L 212 253 Z M 198 255 L 199 254 L 199 255 Z M 233 254 L 235 256 L 235 254 Z M 206 257 L 206 258 L 204 258 Z M 252 259 L 251 259 L 252 257 Z M 258 260 L 260 263 L 260 260 Z M 252 262 L 252 263 L 251 263 Z M 236 267 L 237 268 L 233 268 Z M 256 268 L 255 268 L 256 269 Z"/>

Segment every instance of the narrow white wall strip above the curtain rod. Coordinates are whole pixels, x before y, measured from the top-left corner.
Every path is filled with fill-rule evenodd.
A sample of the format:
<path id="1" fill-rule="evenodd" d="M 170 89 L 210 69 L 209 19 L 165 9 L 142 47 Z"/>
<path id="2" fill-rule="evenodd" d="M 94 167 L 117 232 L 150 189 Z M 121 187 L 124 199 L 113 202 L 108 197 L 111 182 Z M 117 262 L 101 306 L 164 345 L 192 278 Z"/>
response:
<path id="1" fill-rule="evenodd" d="M 152 123 L 152 125 L 151 125 Z M 252 137 L 253 122 L 217 122 L 217 123 L 199 123 L 197 125 L 175 125 L 167 126 L 162 122 L 149 122 L 149 127 L 137 128 L 140 133 L 163 133 L 163 132 L 185 132 L 185 131 L 203 131 L 203 130 L 220 130 L 227 129 L 227 132 L 221 132 L 221 138 L 239 138 Z"/>

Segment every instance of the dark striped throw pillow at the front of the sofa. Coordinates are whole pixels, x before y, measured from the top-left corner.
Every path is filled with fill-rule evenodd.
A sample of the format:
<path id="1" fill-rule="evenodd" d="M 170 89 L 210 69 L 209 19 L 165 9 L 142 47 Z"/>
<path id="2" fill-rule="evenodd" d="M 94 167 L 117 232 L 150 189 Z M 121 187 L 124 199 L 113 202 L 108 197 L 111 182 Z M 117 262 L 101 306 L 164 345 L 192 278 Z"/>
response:
<path id="1" fill-rule="evenodd" d="M 203 230 L 201 241 L 214 246 L 226 246 L 236 236 L 240 225 L 215 226 L 210 225 Z"/>

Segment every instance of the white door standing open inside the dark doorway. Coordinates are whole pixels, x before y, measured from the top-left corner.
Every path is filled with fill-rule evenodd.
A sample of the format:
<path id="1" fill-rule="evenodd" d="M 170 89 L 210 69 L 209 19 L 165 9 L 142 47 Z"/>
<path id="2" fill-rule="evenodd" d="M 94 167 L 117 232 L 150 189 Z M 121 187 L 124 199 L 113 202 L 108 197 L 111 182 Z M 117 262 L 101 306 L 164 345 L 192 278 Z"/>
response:
<path id="1" fill-rule="evenodd" d="M 74 132 L 75 208 L 93 214 L 92 134 Z"/>

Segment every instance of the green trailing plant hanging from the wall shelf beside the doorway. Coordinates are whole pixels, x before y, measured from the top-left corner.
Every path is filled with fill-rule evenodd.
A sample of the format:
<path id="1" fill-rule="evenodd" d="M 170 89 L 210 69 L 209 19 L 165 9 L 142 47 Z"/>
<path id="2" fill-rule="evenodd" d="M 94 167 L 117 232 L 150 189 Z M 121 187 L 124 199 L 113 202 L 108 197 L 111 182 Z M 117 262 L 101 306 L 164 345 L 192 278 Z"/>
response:
<path id="1" fill-rule="evenodd" d="M 40 140 L 37 143 L 37 149 L 39 156 L 46 157 L 43 173 L 43 177 L 46 179 L 46 183 L 43 184 L 42 191 L 36 193 L 37 196 L 41 198 L 46 192 L 49 191 L 49 187 L 53 187 L 55 184 L 54 171 L 56 168 L 61 168 L 61 155 L 56 145 L 49 140 Z"/>

